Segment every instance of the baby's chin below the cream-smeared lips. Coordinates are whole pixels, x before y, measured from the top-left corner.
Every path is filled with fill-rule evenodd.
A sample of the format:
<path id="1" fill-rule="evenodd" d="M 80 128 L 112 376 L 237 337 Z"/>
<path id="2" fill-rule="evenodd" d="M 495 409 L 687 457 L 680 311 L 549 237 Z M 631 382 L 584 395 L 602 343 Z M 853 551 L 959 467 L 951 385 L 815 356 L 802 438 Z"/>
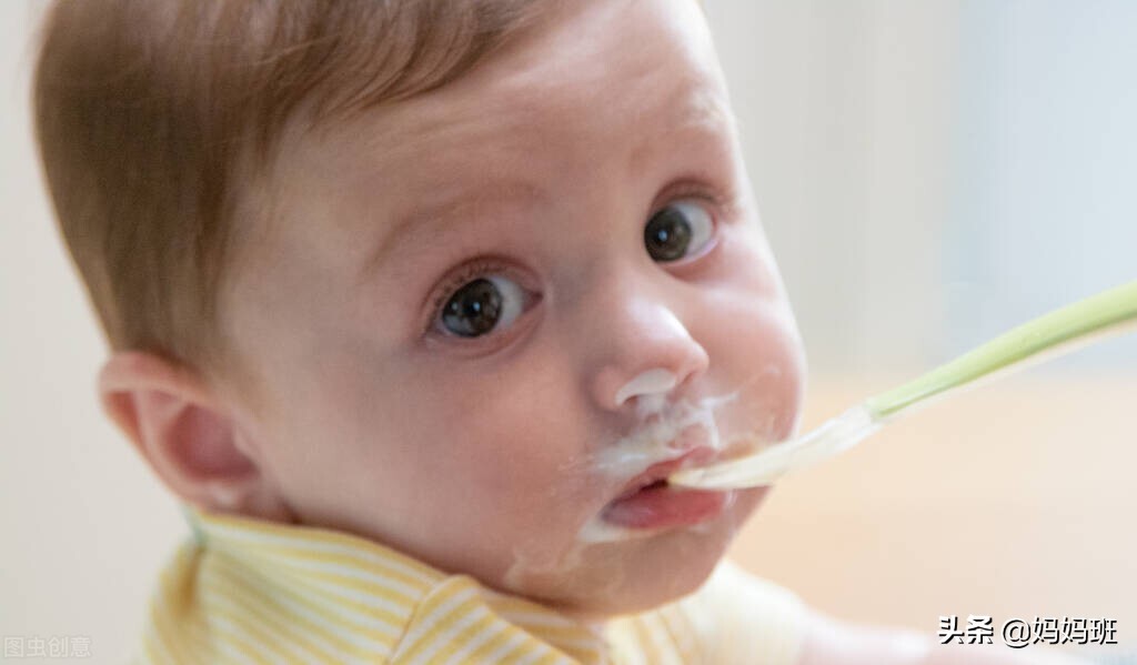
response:
<path id="1" fill-rule="evenodd" d="M 581 543 L 549 566 L 509 580 L 506 589 L 583 621 L 634 614 L 688 596 L 707 580 L 735 534 L 765 494 L 737 493 L 719 518 L 623 541 Z"/>

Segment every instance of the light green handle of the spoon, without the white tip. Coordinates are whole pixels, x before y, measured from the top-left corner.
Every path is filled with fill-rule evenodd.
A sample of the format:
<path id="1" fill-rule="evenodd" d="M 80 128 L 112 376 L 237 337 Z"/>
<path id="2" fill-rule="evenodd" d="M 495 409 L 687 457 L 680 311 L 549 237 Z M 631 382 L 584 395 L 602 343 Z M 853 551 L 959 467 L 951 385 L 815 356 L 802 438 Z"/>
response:
<path id="1" fill-rule="evenodd" d="M 874 421 L 891 418 L 916 402 L 1011 369 L 1043 351 L 1071 350 L 1080 346 L 1073 342 L 1120 332 L 1129 324 L 1137 324 L 1137 281 L 1024 323 L 904 385 L 869 398 L 863 406 Z"/>

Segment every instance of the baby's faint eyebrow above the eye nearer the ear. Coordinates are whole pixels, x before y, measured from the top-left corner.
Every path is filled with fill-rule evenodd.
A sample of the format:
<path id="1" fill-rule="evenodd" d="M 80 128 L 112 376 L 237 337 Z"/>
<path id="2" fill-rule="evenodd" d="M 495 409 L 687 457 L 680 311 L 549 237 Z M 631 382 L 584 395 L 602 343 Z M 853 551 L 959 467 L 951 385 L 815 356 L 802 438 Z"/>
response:
<path id="1" fill-rule="evenodd" d="M 463 219 L 484 215 L 490 209 L 532 207 L 547 199 L 542 188 L 526 181 L 475 182 L 408 213 L 397 213 L 392 215 L 387 232 L 368 252 L 359 279 L 366 279 L 400 248 L 422 246 L 428 240 L 437 244 L 454 233 Z"/>

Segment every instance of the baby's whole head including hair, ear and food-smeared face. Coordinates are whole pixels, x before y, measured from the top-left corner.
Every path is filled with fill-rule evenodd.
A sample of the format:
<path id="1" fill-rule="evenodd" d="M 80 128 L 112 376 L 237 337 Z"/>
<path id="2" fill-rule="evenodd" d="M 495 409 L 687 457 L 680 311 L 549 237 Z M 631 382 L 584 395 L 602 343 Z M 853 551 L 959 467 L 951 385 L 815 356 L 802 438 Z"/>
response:
<path id="1" fill-rule="evenodd" d="M 73 2 L 36 101 L 103 402 L 184 500 L 588 616 L 760 501 L 656 482 L 804 375 L 694 0 Z"/>

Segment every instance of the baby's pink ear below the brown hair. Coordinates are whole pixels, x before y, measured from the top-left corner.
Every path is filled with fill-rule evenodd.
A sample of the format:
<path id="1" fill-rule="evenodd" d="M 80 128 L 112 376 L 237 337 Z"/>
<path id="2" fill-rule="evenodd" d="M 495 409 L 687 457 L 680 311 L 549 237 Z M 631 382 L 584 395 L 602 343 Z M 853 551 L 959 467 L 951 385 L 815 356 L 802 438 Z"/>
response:
<path id="1" fill-rule="evenodd" d="M 183 500 L 207 510 L 290 521 L 232 410 L 196 372 L 155 354 L 117 352 L 99 373 L 99 397 Z"/>

